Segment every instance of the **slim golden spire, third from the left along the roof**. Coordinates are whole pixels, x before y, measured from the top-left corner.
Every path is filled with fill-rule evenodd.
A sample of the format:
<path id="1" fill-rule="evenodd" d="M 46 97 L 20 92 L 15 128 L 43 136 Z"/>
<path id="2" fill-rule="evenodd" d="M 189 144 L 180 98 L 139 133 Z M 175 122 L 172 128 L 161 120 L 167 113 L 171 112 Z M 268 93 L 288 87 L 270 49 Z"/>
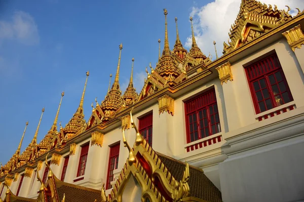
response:
<path id="1" fill-rule="evenodd" d="M 41 155 L 45 154 L 49 149 L 51 149 L 53 139 L 56 138 L 56 136 L 57 136 L 57 133 L 58 133 L 57 121 L 58 121 L 58 115 L 59 115 L 63 96 L 64 96 L 64 92 L 61 93 L 61 99 L 60 99 L 60 103 L 58 106 L 58 110 L 57 110 L 53 125 L 52 125 L 51 129 L 48 131 L 48 133 L 46 134 L 46 136 L 43 138 L 43 140 L 38 145 L 37 156 L 41 156 Z"/>

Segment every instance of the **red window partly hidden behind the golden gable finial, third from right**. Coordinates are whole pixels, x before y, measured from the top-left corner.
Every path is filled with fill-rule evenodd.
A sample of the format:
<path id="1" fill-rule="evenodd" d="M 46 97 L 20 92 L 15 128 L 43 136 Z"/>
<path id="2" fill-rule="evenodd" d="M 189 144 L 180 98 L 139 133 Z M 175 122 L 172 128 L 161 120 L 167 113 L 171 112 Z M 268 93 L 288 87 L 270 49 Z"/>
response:
<path id="1" fill-rule="evenodd" d="M 150 113 L 139 119 L 139 132 L 152 146 L 152 126 L 153 126 L 153 113 Z"/>

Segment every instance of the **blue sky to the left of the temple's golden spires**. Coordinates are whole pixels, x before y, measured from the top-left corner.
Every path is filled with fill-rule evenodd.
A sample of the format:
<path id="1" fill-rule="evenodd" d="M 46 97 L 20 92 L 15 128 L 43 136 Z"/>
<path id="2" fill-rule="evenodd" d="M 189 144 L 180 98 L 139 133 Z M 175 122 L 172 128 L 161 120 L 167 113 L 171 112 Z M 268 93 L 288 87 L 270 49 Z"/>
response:
<path id="1" fill-rule="evenodd" d="M 25 122 L 29 125 L 21 152 L 31 141 L 41 109 L 45 113 L 38 141 L 51 128 L 60 94 L 65 91 L 59 121 L 64 126 L 77 110 L 90 70 L 85 95 L 86 120 L 91 103 L 100 103 L 109 74 L 116 72 L 123 43 L 121 87 L 126 87 L 132 57 L 137 91 L 144 70 L 158 59 L 158 39 L 164 40 L 163 8 L 168 10 L 170 47 L 178 17 L 183 43 L 191 34 L 188 18 L 193 6 L 208 1 L 0 1 L 0 161 L 5 164 L 18 147 Z M 113 79 L 113 77 L 112 77 Z M 125 89 L 122 89 L 123 91 Z"/>

